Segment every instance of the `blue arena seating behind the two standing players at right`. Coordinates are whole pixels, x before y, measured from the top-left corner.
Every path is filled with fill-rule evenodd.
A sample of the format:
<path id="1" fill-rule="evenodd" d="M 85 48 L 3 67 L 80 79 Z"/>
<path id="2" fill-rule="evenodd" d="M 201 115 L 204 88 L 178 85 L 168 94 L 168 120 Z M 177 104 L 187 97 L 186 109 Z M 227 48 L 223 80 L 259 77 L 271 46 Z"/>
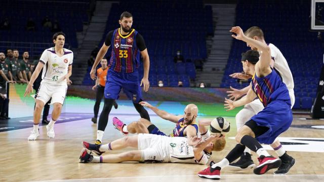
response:
<path id="1" fill-rule="evenodd" d="M 304 7 L 310 7 L 310 1 L 240 1 L 236 8 L 236 25 L 243 30 L 251 26 L 261 27 L 266 42 L 276 45 L 287 59 L 295 82 L 294 109 L 311 108 L 323 55 L 317 32 L 309 32 L 310 8 Z M 231 85 L 242 88 L 249 85 L 248 82 L 239 84 L 228 76 L 242 71 L 240 55 L 248 49 L 246 43 L 233 40 L 221 87 Z"/>

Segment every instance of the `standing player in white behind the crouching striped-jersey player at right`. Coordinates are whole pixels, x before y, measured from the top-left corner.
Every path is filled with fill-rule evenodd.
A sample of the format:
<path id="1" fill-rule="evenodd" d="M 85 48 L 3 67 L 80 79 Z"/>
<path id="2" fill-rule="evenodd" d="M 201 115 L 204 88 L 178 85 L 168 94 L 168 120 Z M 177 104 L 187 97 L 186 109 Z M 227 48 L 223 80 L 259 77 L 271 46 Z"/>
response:
<path id="1" fill-rule="evenodd" d="M 253 26 L 248 30 L 246 30 L 245 35 L 266 44 L 264 40 L 263 31 L 261 30 L 261 28 L 257 26 Z M 252 50 L 259 51 L 259 53 L 261 54 L 261 51 L 258 50 L 253 45 L 247 43 L 247 46 L 250 47 Z M 294 80 L 293 80 L 292 72 L 290 71 L 290 68 L 288 66 L 287 60 L 285 59 L 284 55 L 282 55 L 280 50 L 277 47 L 275 47 L 275 45 L 269 43 L 268 46 L 271 50 L 271 58 L 272 58 L 270 65 L 280 73 L 282 77 L 282 81 L 287 85 L 292 106 L 294 106 L 295 103 Z M 252 75 L 247 75 L 242 73 L 233 73 L 230 76 L 239 79 L 247 79 L 252 77 Z M 235 101 L 237 98 L 240 98 L 242 95 L 247 94 L 249 88 L 250 86 L 243 88 L 241 90 L 231 88 L 232 90 L 229 91 L 229 97 L 231 97 L 230 99 L 234 99 Z M 264 107 L 259 99 L 256 99 L 253 102 L 245 105 L 244 108 L 240 110 L 235 116 L 237 130 L 239 130 L 247 121 L 249 121 L 252 116 L 262 111 L 263 108 Z M 274 151 L 282 161 L 281 166 L 278 168 L 278 170 L 274 171 L 274 174 L 288 173 L 289 169 L 295 164 L 295 159 L 287 154 L 287 152 L 284 150 L 284 148 L 281 146 L 280 142 L 277 139 L 270 146 L 274 149 Z M 251 150 L 249 148 L 246 148 L 244 154 L 242 154 L 240 159 L 237 162 L 230 164 L 228 168 L 237 171 L 237 170 L 249 169 L 249 166 L 252 167 L 254 165 L 255 164 L 251 159 Z"/>

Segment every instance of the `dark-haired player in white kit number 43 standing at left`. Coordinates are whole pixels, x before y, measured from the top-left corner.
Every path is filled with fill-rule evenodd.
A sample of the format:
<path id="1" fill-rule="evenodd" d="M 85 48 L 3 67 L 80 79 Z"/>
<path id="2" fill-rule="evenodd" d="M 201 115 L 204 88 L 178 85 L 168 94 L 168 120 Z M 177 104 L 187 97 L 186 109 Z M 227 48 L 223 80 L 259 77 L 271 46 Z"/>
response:
<path id="1" fill-rule="evenodd" d="M 49 138 L 54 138 L 54 123 L 59 118 L 66 96 L 67 83 L 72 74 L 73 52 L 63 48 L 65 34 L 57 32 L 53 35 L 55 47 L 45 50 L 31 75 L 25 95 L 32 92 L 32 86 L 39 72 L 43 69 L 41 86 L 35 95 L 34 125 L 28 140 L 36 140 L 39 136 L 38 123 L 44 105 L 52 98 L 53 112 L 50 123 L 46 126 Z"/>

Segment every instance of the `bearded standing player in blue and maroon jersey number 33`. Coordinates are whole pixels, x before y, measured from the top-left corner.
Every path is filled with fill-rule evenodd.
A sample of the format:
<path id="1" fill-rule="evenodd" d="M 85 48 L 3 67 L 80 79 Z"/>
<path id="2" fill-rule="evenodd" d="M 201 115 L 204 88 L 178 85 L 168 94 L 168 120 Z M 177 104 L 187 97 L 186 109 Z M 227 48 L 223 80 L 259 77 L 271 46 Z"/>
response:
<path id="1" fill-rule="evenodd" d="M 119 24 L 120 28 L 108 32 L 105 43 L 102 45 L 90 72 L 91 78 L 95 79 L 96 67 L 111 45 L 112 51 L 107 74 L 108 79 L 104 91 L 104 106 L 98 122 L 96 141 L 98 146 L 101 145 L 112 104 L 114 100 L 118 99 L 121 88 L 123 88 L 127 97 L 133 101 L 141 118 L 150 120 L 148 112 L 139 104 L 143 100 L 140 86 L 142 84 L 144 85 L 145 92 L 149 88 L 148 71 L 150 63 L 145 41 L 142 35 L 135 29 L 131 29 L 133 24 L 133 16 L 131 13 L 123 12 L 120 15 Z M 138 81 L 140 54 L 143 57 L 144 63 L 144 76 L 141 83 Z"/>

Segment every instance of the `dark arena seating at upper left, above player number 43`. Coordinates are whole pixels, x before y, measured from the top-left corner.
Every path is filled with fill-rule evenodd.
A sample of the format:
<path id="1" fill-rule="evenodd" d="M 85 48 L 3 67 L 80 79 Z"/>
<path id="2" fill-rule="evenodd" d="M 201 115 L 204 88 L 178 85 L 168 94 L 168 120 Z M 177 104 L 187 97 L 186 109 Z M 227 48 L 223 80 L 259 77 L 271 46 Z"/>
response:
<path id="1" fill-rule="evenodd" d="M 58 21 L 60 28 L 66 34 L 66 44 L 77 48 L 76 31 L 83 30 L 83 22 L 89 21 L 87 10 L 89 1 L 1 1 L 2 15 L 0 21 L 8 18 L 11 30 L 0 30 L 1 48 L 16 48 L 27 50 L 31 56 L 39 56 L 52 43 L 53 32 L 42 26 L 43 19 L 48 15 L 52 24 Z M 27 20 L 32 18 L 36 24 L 36 31 L 26 31 Z M 4 42 L 9 41 L 9 42 Z M 10 42 L 19 42 L 14 45 Z M 30 42 L 40 44 L 30 47 Z M 42 47 L 42 42 L 45 43 Z M 13 46 L 13 47 L 11 47 Z M 22 54 L 22 53 L 21 53 Z"/>

